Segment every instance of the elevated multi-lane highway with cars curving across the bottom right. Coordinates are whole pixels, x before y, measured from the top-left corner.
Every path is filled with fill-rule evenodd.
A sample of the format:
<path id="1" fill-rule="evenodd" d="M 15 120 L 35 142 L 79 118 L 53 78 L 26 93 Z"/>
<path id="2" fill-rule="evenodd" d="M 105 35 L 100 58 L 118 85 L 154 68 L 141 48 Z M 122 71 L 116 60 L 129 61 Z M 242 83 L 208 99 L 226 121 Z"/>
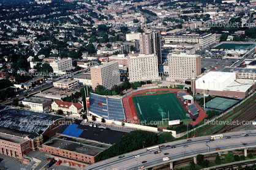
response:
<path id="1" fill-rule="evenodd" d="M 249 136 L 241 135 L 246 133 Z M 99 163 L 94 163 L 84 168 L 85 170 L 89 169 L 138 169 L 140 166 L 145 166 L 145 168 L 151 168 L 160 164 L 170 163 L 171 161 L 183 160 L 184 158 L 195 157 L 198 154 L 206 155 L 209 153 L 223 152 L 227 150 L 237 150 L 245 149 L 249 147 L 256 147 L 256 131 L 240 131 L 234 133 L 224 133 L 224 137 L 220 139 L 215 139 L 207 145 L 210 147 L 208 152 L 208 146 L 206 142 L 209 141 L 209 136 L 203 136 L 198 138 L 191 138 L 192 141 L 187 141 L 183 139 L 175 142 L 168 142 L 164 145 L 175 146 L 176 148 L 171 147 L 162 147 L 161 153 L 148 153 L 145 149 L 137 150 L 134 152 L 124 154 L 123 158 L 110 158 L 108 160 L 100 161 Z M 230 139 L 227 137 L 230 136 Z M 247 143 L 246 146 L 243 146 L 243 143 Z M 188 147 L 184 148 L 184 145 Z M 142 144 L 141 144 L 142 145 Z M 160 144 L 161 146 L 162 144 Z M 216 150 L 219 148 L 220 150 Z M 169 153 L 164 155 L 164 153 Z M 140 157 L 135 158 L 136 155 Z M 168 157 L 170 160 L 163 161 L 163 158 Z M 146 161 L 146 163 L 142 163 Z"/>

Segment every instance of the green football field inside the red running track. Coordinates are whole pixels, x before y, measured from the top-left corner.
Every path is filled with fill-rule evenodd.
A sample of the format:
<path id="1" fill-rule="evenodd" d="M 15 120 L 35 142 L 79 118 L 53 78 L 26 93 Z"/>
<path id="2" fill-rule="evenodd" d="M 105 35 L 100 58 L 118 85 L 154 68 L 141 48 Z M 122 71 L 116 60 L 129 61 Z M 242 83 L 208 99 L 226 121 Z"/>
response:
<path id="1" fill-rule="evenodd" d="M 132 97 L 132 100 L 140 121 L 186 119 L 187 111 L 174 93 L 140 95 Z"/>

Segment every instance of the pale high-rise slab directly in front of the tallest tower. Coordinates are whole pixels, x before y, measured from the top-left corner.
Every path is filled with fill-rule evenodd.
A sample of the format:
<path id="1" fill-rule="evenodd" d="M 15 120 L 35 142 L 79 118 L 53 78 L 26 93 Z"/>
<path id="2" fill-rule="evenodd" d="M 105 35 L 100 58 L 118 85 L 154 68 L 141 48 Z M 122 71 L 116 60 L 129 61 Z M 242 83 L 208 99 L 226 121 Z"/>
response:
<path id="1" fill-rule="evenodd" d="M 128 61 L 130 81 L 161 80 L 155 54 L 129 56 Z"/>

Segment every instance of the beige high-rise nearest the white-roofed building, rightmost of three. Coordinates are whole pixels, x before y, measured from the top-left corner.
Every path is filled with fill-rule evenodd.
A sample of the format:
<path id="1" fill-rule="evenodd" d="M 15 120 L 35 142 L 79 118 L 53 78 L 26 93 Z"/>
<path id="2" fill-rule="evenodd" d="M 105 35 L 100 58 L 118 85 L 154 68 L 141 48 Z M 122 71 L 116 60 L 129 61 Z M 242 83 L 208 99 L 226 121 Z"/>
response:
<path id="1" fill-rule="evenodd" d="M 201 57 L 195 54 L 169 54 L 169 77 L 167 81 L 184 81 L 201 74 Z"/>

